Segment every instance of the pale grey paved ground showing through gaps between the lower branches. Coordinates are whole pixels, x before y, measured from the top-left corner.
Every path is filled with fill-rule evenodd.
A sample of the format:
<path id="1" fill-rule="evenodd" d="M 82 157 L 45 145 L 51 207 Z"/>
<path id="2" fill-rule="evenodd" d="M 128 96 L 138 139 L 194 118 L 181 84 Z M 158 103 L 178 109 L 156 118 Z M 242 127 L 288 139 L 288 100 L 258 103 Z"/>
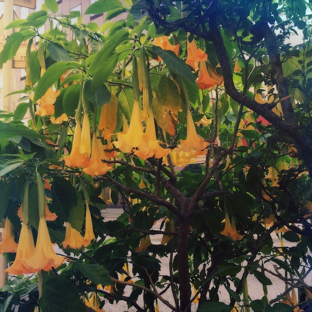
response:
<path id="1" fill-rule="evenodd" d="M 123 212 L 122 209 L 117 209 L 117 208 L 111 208 L 111 209 L 107 209 L 107 210 L 103 210 L 102 215 L 105 217 L 105 220 L 114 220 L 115 218 L 117 218 L 121 213 Z M 154 226 L 154 229 L 159 229 L 159 225 L 160 222 L 156 223 L 156 225 Z M 151 241 L 153 244 L 159 244 L 160 240 L 161 240 L 162 235 L 151 235 Z M 280 241 L 278 239 L 278 237 L 276 235 L 273 235 L 273 241 L 275 246 L 280 246 Z M 162 262 L 162 271 L 161 273 L 163 274 L 168 274 L 169 270 L 168 270 L 168 260 L 167 259 L 163 259 Z M 270 265 L 267 266 L 268 269 L 272 269 L 272 271 L 274 271 L 274 268 Z M 268 286 L 268 297 L 269 300 L 276 298 L 276 296 L 280 295 L 281 293 L 283 293 L 285 291 L 285 283 L 283 283 L 279 278 L 274 277 L 274 276 L 268 276 L 271 281 L 272 281 L 272 285 Z M 256 300 L 256 299 L 261 299 L 263 297 L 263 288 L 262 285 L 258 282 L 258 280 L 252 275 L 249 276 L 248 278 L 248 289 L 249 289 L 249 296 L 252 300 Z M 309 276 L 309 278 L 306 280 L 306 282 L 309 285 L 312 285 L 312 276 Z M 129 295 L 130 293 L 130 287 L 126 288 L 125 290 L 125 295 Z M 229 297 L 228 297 L 228 293 L 226 290 L 222 291 L 219 293 L 219 298 L 221 302 L 224 303 L 228 303 L 229 302 Z M 170 303 L 172 303 L 172 305 L 174 305 L 174 301 L 172 299 L 172 296 L 170 296 L 169 294 L 165 297 L 165 299 L 167 301 L 169 301 Z M 138 304 L 140 306 L 142 306 L 143 304 L 143 300 L 142 298 L 139 298 Z M 164 306 L 162 303 L 159 303 L 159 308 L 161 312 L 171 312 L 171 310 L 169 308 L 167 308 L 166 306 Z M 129 311 L 129 312 L 136 312 L 137 310 L 134 308 L 128 309 L 127 304 L 124 302 L 120 302 L 118 303 L 118 305 L 110 305 L 109 303 L 105 304 L 104 307 L 106 312 L 123 312 L 123 311 Z M 196 311 L 196 306 L 194 305 L 192 307 L 192 311 Z"/>

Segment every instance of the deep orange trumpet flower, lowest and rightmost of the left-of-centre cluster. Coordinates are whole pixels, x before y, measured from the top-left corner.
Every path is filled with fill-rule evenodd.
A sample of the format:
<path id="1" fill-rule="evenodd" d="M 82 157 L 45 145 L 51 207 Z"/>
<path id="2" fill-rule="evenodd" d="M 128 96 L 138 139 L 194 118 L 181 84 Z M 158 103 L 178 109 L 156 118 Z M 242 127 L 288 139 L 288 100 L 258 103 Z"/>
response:
<path id="1" fill-rule="evenodd" d="M 107 164 L 101 160 L 96 133 L 93 134 L 92 139 L 91 160 L 93 160 L 92 164 L 86 168 L 83 168 L 83 171 L 92 176 L 105 174 L 113 167 L 111 164 Z"/>

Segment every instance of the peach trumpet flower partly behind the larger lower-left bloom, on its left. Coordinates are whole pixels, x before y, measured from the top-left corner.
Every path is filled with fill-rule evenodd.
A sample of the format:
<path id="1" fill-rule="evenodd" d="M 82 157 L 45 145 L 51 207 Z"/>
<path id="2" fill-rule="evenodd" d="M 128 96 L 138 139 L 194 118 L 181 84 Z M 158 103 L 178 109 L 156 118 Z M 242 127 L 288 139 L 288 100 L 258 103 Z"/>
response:
<path id="1" fill-rule="evenodd" d="M 32 273 L 24 266 L 21 260 L 30 257 L 34 250 L 35 244 L 33 242 L 31 227 L 22 223 L 15 260 L 13 264 L 5 270 L 5 272 L 15 275 Z"/>

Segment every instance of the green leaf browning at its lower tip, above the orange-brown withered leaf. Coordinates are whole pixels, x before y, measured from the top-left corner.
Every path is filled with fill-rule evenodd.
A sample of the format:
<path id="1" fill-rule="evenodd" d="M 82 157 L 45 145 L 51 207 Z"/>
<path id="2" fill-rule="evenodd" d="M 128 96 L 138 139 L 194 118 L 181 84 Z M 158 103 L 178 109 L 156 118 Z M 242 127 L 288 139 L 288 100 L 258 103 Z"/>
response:
<path id="1" fill-rule="evenodd" d="M 176 84 L 168 77 L 161 76 L 159 81 L 159 98 L 163 105 L 168 107 L 172 113 L 178 114 L 181 98 Z"/>

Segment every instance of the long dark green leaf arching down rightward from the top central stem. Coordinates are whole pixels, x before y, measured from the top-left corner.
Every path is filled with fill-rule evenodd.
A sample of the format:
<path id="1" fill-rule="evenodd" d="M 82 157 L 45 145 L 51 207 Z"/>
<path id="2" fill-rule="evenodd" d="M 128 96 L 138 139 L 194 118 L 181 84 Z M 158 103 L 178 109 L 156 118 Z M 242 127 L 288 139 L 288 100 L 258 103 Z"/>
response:
<path id="1" fill-rule="evenodd" d="M 166 65 L 174 71 L 176 74 L 181 75 L 188 81 L 194 82 L 195 78 L 190 67 L 180 58 L 178 58 L 174 52 L 163 50 L 158 46 L 153 46 L 153 51 L 159 55 Z"/>

